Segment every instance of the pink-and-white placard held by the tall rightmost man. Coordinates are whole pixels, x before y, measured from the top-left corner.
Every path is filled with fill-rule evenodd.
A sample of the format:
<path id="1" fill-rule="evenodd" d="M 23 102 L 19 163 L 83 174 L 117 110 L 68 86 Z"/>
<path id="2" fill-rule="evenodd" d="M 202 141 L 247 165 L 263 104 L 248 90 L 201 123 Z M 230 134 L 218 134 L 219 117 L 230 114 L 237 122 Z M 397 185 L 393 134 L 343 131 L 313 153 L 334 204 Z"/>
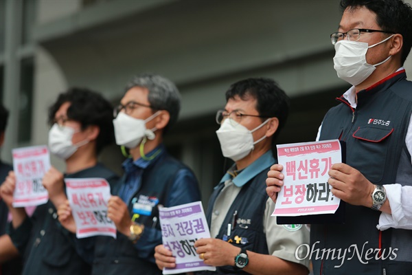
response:
<path id="1" fill-rule="evenodd" d="M 328 171 L 342 162 L 339 140 L 277 145 L 284 186 L 272 216 L 303 216 L 336 212 L 341 199 L 332 195 Z"/>

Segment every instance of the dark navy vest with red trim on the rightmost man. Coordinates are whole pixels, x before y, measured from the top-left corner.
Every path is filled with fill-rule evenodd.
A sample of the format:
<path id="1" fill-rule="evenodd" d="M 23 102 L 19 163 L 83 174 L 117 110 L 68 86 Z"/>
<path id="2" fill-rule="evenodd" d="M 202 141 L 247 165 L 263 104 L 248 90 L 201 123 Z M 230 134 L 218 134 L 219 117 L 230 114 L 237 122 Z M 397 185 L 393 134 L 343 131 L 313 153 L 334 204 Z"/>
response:
<path id="1" fill-rule="evenodd" d="M 356 110 L 343 97 L 338 100 L 341 104 L 330 109 L 323 119 L 320 140 L 344 140 L 347 164 L 373 184 L 411 185 L 411 155 L 405 136 L 412 112 L 412 83 L 406 80 L 404 70 L 359 91 Z M 341 248 L 343 252 L 357 245 L 363 262 L 368 262 L 358 260 L 354 247 L 347 252 L 341 267 L 334 266 L 341 265 L 342 259 L 332 260 L 329 256 L 322 261 L 314 254 L 314 274 L 411 274 L 412 230 L 392 228 L 381 232 L 376 228 L 380 213 L 346 203 L 345 224 L 312 225 L 310 242 L 315 250 Z M 376 260 L 375 252 L 372 259 L 365 259 L 370 248 L 381 248 L 382 258 L 386 259 Z"/>

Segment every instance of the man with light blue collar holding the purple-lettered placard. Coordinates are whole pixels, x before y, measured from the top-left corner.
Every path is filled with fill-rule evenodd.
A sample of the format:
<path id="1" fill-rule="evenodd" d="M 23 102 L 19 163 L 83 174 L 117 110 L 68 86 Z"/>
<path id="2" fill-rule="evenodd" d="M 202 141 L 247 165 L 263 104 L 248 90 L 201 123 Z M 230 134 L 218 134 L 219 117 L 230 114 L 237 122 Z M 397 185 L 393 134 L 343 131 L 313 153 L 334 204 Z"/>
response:
<path id="1" fill-rule="evenodd" d="M 276 162 L 272 147 L 286 122 L 289 98 L 275 81 L 249 78 L 226 92 L 216 131 L 222 153 L 235 164 L 216 186 L 207 208 L 211 239 L 194 244 L 199 257 L 216 272 L 199 274 L 308 274 L 308 260 L 295 256 L 308 243 L 302 225 L 277 225 L 274 203 L 266 196 L 266 174 Z M 172 253 L 156 249 L 160 269 L 175 267 Z"/>

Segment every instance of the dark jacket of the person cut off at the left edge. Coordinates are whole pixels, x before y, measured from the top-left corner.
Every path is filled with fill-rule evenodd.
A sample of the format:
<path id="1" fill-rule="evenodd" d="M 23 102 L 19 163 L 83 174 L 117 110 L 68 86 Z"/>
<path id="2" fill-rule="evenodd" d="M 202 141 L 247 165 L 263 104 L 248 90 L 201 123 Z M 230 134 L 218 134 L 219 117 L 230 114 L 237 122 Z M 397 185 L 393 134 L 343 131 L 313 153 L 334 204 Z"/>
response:
<path id="1" fill-rule="evenodd" d="M 0 185 L 3 184 L 5 177 L 8 176 L 8 173 L 13 170 L 13 167 L 9 164 L 5 164 L 0 160 Z M 0 198 L 0 236 L 5 234 L 7 228 L 7 218 L 8 218 L 8 207 L 5 205 L 4 201 Z M 0 265 L 0 274 L 1 275 L 17 275 L 21 274 L 21 257 L 17 257 L 7 263 Z"/>

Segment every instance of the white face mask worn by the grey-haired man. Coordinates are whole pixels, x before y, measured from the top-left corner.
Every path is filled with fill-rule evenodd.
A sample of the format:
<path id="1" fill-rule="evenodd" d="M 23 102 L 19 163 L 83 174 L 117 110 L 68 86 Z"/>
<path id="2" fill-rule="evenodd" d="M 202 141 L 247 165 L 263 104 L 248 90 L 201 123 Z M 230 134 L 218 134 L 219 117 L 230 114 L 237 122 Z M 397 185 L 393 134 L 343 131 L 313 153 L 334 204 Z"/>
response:
<path id="1" fill-rule="evenodd" d="M 159 111 L 150 115 L 146 120 L 141 120 L 126 115 L 124 112 L 119 113 L 113 120 L 116 144 L 131 149 L 139 145 L 143 137 L 153 140 L 155 138 L 155 133 L 153 132 L 157 129 L 146 129 L 146 122 L 157 117 L 157 115 L 159 115 Z"/>

